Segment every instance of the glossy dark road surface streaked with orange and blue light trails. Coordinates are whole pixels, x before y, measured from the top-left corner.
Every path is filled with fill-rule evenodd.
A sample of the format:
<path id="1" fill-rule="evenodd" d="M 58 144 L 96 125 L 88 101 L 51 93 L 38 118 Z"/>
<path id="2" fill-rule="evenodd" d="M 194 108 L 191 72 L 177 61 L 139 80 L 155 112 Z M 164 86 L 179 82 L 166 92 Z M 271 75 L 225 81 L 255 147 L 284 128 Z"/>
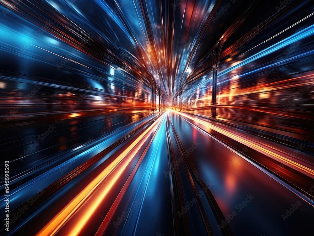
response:
<path id="1" fill-rule="evenodd" d="M 133 116 L 120 118 L 115 128 L 101 116 L 58 121 L 56 127 L 67 128 L 50 128 L 47 144 L 39 140 L 38 148 L 34 137 L 47 123 L 34 124 L 33 134 L 25 128 L 29 138 L 19 140 L 14 156 L 27 142 L 35 149 L 10 162 L 24 168 L 12 178 L 10 235 L 311 232 L 310 155 L 289 156 L 291 147 L 261 137 L 257 142 L 256 135 L 200 115 L 169 109 Z M 60 144 L 58 132 L 65 131 L 77 135 L 76 143 L 71 136 Z M 82 142 L 88 135 L 96 138 Z M 47 150 L 49 143 L 68 146 Z"/>

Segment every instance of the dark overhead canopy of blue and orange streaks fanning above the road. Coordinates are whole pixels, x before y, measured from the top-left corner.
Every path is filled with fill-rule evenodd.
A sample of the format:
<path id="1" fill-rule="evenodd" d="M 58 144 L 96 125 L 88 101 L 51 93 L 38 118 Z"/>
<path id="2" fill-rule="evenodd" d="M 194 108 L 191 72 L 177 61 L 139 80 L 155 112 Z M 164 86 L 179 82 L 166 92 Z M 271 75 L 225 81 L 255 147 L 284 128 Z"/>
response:
<path id="1" fill-rule="evenodd" d="M 209 83 L 212 52 L 220 52 L 220 67 L 227 73 L 270 54 L 273 40 L 269 39 L 274 36 L 276 42 L 282 40 L 279 48 L 287 45 L 283 35 L 287 30 L 295 32 L 289 29 L 291 25 L 312 21 L 307 17 L 313 12 L 310 2 L 1 1 L 7 7 L 6 14 L 17 12 L 12 18 L 27 21 L 24 28 L 10 23 L 19 36 L 32 25 L 42 26 L 43 32 L 51 34 L 41 37 L 43 32 L 37 32 L 39 39 L 35 39 L 42 43 L 40 47 L 36 42 L 38 49 L 87 68 L 92 57 L 148 87 L 156 83 L 167 99 L 176 99 L 180 91 L 188 94 L 195 89 L 195 81 L 197 85 L 200 80 Z M 24 34 L 30 41 L 33 36 Z M 64 50 L 70 50 L 61 41 L 84 54 L 66 54 Z M 25 50 L 22 47 L 21 52 Z M 242 61 L 248 57 L 252 60 Z M 242 64 L 232 68 L 230 62 L 224 67 L 234 58 L 232 65 Z M 62 66 L 61 58 L 57 67 Z M 228 79 L 225 73 L 218 74 L 218 82 Z M 186 97 L 183 95 L 183 100 Z"/>

